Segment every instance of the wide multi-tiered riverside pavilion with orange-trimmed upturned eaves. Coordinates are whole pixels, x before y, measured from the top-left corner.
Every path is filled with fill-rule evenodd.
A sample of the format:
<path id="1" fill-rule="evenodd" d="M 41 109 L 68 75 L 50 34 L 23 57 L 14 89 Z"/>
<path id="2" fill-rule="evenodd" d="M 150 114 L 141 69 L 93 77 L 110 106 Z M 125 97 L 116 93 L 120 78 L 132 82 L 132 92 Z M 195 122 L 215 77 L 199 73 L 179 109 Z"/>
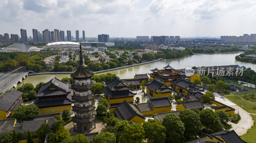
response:
<path id="1" fill-rule="evenodd" d="M 165 85 L 171 84 L 173 81 L 181 80 L 181 79 L 189 79 L 185 75 L 185 72 L 178 71 L 172 68 L 169 64 L 164 67 L 164 69 L 151 69 L 153 73 L 148 74 L 150 76 L 150 80 L 153 81 L 154 79 L 158 79 L 163 82 Z"/>

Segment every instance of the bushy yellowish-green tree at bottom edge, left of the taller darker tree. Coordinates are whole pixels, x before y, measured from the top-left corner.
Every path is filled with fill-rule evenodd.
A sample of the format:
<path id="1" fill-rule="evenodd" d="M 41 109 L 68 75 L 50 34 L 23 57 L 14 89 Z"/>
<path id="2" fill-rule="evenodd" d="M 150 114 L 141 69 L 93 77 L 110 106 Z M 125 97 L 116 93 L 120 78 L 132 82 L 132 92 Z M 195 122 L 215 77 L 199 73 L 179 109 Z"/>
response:
<path id="1" fill-rule="evenodd" d="M 145 138 L 148 143 L 164 143 L 165 142 L 165 127 L 160 121 L 155 119 L 148 119 L 148 122 L 144 122 L 142 127 L 145 131 Z"/>

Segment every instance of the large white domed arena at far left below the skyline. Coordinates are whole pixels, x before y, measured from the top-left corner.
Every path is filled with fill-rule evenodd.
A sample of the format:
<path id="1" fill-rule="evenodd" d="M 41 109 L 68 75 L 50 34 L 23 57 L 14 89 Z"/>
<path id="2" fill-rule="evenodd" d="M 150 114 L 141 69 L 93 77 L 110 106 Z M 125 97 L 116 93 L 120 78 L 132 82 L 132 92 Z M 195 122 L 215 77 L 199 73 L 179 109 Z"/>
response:
<path id="1" fill-rule="evenodd" d="M 4 48 L 1 52 L 38 52 L 40 49 L 29 44 L 12 44 Z"/>

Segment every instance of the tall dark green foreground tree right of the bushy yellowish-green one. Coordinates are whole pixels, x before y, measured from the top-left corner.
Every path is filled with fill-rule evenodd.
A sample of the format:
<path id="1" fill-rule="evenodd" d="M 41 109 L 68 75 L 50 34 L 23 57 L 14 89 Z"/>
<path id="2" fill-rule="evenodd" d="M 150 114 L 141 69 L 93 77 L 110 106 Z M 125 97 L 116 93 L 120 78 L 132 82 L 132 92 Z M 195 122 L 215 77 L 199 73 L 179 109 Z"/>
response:
<path id="1" fill-rule="evenodd" d="M 168 113 L 163 117 L 162 125 L 166 128 L 167 142 L 178 142 L 185 131 L 184 123 L 174 113 Z"/>

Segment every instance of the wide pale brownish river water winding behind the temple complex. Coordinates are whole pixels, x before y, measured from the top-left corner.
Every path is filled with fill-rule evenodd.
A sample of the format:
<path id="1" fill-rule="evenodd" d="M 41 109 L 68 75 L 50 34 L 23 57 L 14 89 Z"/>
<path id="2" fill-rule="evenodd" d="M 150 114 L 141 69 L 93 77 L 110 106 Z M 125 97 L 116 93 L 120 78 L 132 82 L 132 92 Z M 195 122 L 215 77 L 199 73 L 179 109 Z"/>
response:
<path id="1" fill-rule="evenodd" d="M 215 53 L 215 54 L 194 54 L 188 55 L 182 58 L 177 59 L 164 59 L 157 62 L 152 62 L 140 66 L 134 66 L 130 68 L 123 68 L 118 70 L 109 71 L 109 73 L 116 74 L 120 79 L 133 78 L 135 74 L 146 74 L 151 73 L 150 69 L 158 68 L 162 69 L 168 63 L 175 69 L 181 69 L 189 67 L 201 67 L 201 66 L 224 66 L 224 65 L 239 65 L 245 66 L 246 68 L 252 68 L 252 70 L 256 71 L 256 64 L 245 63 L 235 60 L 235 56 L 243 53 L 239 52 L 228 52 L 228 53 Z M 107 72 L 99 73 L 106 74 Z M 22 83 L 32 83 L 34 86 L 39 82 L 48 82 L 53 77 L 57 77 L 58 79 L 62 79 L 63 77 L 70 77 L 69 74 L 58 74 L 58 75 L 31 75 L 26 77 Z M 18 84 L 20 87 L 21 84 Z"/>

